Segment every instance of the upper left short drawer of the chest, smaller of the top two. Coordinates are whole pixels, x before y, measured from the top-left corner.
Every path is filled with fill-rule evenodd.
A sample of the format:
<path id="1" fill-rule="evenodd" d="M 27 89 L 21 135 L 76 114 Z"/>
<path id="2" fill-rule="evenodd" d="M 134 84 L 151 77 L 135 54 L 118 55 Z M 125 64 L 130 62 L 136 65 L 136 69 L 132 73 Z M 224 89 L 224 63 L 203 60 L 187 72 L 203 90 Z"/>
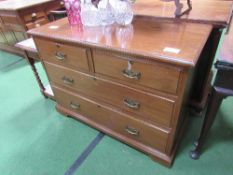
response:
<path id="1" fill-rule="evenodd" d="M 43 60 L 74 69 L 89 70 L 88 49 L 39 38 L 34 40 Z"/>

